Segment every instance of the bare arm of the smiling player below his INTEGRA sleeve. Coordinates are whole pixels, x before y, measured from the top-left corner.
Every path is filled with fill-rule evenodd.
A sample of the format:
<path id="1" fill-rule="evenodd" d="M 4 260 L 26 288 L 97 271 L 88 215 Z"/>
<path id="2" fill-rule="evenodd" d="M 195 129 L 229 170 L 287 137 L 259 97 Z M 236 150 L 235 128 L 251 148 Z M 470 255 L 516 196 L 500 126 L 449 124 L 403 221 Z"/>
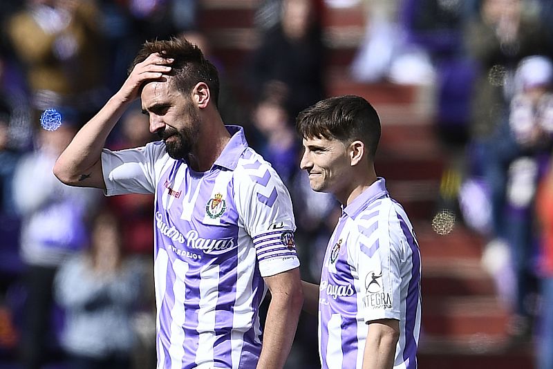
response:
<path id="1" fill-rule="evenodd" d="M 398 339 L 400 339 L 400 321 L 378 319 L 369 322 L 363 354 L 363 369 L 392 369 Z"/>

